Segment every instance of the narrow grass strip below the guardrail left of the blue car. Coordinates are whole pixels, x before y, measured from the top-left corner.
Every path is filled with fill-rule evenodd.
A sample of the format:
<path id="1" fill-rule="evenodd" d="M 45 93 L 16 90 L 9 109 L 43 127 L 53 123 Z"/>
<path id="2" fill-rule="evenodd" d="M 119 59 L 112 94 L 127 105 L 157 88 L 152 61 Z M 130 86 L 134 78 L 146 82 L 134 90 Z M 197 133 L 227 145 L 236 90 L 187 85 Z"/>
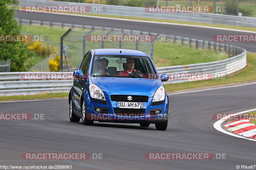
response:
<path id="1" fill-rule="evenodd" d="M 68 98 L 68 93 L 43 93 L 35 95 L 0 96 L 0 101 Z"/>

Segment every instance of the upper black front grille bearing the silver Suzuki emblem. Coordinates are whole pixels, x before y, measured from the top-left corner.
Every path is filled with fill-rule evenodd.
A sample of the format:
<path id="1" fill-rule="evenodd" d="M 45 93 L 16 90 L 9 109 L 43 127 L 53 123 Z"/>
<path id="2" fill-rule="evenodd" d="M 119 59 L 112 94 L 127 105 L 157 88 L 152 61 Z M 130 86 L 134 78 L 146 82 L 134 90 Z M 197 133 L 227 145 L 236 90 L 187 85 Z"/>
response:
<path id="1" fill-rule="evenodd" d="M 131 96 L 128 100 L 128 96 Z M 148 96 L 137 96 L 137 95 L 111 95 L 111 101 L 126 101 L 126 102 L 148 102 Z"/>

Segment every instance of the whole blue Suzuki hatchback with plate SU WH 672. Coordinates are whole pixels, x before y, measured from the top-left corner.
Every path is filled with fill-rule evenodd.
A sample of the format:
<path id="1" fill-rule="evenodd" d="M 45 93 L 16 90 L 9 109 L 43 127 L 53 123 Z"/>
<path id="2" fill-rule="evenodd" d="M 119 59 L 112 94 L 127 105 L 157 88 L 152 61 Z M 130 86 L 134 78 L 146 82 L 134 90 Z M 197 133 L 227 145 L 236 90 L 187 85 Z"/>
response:
<path id="1" fill-rule="evenodd" d="M 163 81 L 150 57 L 128 49 L 89 50 L 78 69 L 69 92 L 69 119 L 84 125 L 94 121 L 168 125 L 169 100 Z"/>

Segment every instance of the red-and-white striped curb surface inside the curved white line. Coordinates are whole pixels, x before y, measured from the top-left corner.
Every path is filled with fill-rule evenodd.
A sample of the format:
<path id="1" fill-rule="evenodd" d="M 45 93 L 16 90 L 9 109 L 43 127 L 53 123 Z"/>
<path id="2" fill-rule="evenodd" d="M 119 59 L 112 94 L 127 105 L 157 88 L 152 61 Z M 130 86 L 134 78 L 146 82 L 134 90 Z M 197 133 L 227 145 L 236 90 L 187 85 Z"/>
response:
<path id="1" fill-rule="evenodd" d="M 256 125 L 252 124 L 249 119 L 228 122 L 224 124 L 224 127 L 238 135 L 256 139 Z"/>

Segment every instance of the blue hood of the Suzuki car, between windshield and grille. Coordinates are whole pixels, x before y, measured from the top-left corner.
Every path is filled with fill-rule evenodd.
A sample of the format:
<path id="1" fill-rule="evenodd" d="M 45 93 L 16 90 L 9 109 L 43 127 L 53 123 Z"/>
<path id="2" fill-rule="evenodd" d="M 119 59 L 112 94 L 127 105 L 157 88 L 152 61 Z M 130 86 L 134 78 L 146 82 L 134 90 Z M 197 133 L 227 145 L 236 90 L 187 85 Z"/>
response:
<path id="1" fill-rule="evenodd" d="M 156 90 L 162 85 L 159 79 L 147 78 L 92 77 L 91 80 L 102 89 L 106 96 L 119 94 L 153 97 Z"/>

